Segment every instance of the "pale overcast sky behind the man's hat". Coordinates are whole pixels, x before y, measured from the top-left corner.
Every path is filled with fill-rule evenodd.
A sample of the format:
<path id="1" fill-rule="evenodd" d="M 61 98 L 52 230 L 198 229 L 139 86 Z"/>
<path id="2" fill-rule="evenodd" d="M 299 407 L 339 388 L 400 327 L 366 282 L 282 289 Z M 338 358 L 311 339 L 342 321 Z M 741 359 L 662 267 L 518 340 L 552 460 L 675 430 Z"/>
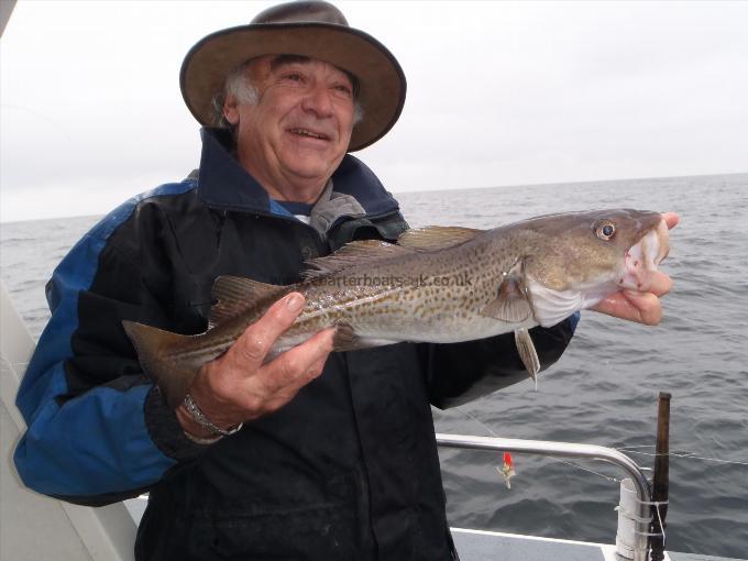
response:
<path id="1" fill-rule="evenodd" d="M 6 0 L 0 0 L 6 1 Z M 0 220 L 182 179 L 179 66 L 275 2 L 20 1 L 0 43 Z M 359 153 L 392 191 L 748 172 L 748 2 L 338 2 L 408 98 Z"/>

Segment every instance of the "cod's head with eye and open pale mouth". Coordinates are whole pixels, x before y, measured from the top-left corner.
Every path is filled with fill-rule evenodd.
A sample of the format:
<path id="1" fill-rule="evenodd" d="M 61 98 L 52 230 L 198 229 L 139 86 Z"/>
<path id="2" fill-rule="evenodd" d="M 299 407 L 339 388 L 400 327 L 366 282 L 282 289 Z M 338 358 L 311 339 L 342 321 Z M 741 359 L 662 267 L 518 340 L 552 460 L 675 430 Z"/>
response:
<path id="1" fill-rule="evenodd" d="M 568 212 L 528 220 L 527 228 L 534 243 L 524 274 L 534 301 L 573 299 L 576 309 L 619 289 L 646 292 L 670 249 L 660 212 Z"/>

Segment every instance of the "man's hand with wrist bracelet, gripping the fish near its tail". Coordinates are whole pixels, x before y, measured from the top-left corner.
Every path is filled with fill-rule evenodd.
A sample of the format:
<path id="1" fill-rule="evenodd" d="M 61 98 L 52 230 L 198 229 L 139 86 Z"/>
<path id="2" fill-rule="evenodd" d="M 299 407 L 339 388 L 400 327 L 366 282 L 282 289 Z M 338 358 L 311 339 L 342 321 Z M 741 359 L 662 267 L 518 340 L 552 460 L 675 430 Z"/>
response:
<path id="1" fill-rule="evenodd" d="M 320 331 L 264 363 L 276 339 L 294 323 L 302 308 L 300 294 L 287 295 L 246 328 L 222 356 L 202 365 L 189 393 L 215 425 L 228 429 L 273 413 L 322 373 L 332 351 L 334 329 Z M 177 418 L 190 435 L 210 436 L 184 405 L 177 408 Z"/>

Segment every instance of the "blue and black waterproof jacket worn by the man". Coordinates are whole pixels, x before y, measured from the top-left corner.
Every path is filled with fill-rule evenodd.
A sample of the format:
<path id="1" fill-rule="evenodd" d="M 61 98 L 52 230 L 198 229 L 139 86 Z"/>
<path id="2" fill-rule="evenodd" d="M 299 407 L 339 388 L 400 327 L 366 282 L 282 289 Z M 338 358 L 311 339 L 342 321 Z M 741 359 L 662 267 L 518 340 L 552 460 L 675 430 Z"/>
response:
<path id="1" fill-rule="evenodd" d="M 268 199 L 226 132 L 202 135 L 199 176 L 125 202 L 55 270 L 52 319 L 18 396 L 21 477 L 94 506 L 148 491 L 139 560 L 449 559 L 429 404 L 524 380 L 512 336 L 333 353 L 287 406 L 210 446 L 185 437 L 142 372 L 122 320 L 199 333 L 217 276 L 294 283 L 309 258 L 407 229 L 350 155 L 332 184 L 359 210 L 320 232 Z M 532 331 L 543 367 L 574 323 Z"/>

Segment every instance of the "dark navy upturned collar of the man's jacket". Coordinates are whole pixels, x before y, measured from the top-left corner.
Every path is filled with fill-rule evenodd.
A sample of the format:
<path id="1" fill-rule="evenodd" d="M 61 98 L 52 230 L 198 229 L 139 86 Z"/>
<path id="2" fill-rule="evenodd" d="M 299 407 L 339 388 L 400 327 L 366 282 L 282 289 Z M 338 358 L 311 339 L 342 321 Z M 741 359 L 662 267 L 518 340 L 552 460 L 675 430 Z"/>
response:
<path id="1" fill-rule="evenodd" d="M 282 215 L 278 205 L 252 177 L 231 153 L 229 131 L 206 127 L 200 131 L 202 155 L 198 176 L 198 197 L 209 207 Z M 375 217 L 398 210 L 397 201 L 387 193 L 380 179 L 360 160 L 346 154 L 332 174 L 334 194 L 353 197 L 365 216 Z"/>

